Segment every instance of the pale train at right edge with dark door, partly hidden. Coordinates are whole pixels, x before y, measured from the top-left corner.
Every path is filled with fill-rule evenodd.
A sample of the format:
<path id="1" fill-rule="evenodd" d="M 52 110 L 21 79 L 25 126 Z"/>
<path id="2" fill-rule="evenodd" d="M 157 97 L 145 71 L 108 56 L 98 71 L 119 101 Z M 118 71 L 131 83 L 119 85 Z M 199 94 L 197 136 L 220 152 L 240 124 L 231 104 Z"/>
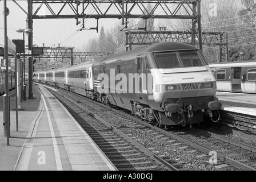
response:
<path id="1" fill-rule="evenodd" d="M 256 62 L 241 61 L 209 64 L 217 82 L 217 90 L 256 93 Z"/>

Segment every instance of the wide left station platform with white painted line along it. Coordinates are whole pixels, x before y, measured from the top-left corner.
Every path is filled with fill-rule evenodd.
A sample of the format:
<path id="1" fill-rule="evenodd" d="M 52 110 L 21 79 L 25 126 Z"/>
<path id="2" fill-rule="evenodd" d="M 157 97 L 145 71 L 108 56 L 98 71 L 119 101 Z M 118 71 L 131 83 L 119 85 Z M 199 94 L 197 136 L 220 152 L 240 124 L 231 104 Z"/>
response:
<path id="1" fill-rule="evenodd" d="M 28 90 L 27 90 L 28 91 Z M 27 92 L 28 93 L 28 92 Z M 15 93 L 10 95 L 10 144 L 0 125 L 0 171 L 115 171 L 69 111 L 45 88 L 33 86 L 21 102 L 16 131 Z M 0 101 L 0 118 L 3 118 Z"/>

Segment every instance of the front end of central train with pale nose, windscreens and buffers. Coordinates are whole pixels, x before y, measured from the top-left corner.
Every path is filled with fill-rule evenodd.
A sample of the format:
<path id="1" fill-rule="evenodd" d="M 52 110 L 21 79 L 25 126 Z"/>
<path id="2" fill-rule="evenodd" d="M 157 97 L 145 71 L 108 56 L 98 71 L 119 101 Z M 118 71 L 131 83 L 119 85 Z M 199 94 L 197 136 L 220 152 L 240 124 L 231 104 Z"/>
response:
<path id="1" fill-rule="evenodd" d="M 160 125 L 191 125 L 202 122 L 205 114 L 214 122 L 219 119 L 216 80 L 201 50 L 187 46 L 149 55 L 154 62 L 150 71 Z"/>

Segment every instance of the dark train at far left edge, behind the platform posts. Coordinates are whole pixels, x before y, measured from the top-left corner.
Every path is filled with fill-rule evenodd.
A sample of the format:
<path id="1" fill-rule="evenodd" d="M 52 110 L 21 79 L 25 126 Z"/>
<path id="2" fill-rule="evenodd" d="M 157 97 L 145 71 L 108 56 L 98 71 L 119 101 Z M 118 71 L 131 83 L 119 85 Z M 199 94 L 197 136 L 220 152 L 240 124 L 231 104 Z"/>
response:
<path id="1" fill-rule="evenodd" d="M 13 68 L 9 69 L 8 90 L 15 88 L 15 71 Z M 5 69 L 0 71 L 0 96 L 5 94 Z"/>

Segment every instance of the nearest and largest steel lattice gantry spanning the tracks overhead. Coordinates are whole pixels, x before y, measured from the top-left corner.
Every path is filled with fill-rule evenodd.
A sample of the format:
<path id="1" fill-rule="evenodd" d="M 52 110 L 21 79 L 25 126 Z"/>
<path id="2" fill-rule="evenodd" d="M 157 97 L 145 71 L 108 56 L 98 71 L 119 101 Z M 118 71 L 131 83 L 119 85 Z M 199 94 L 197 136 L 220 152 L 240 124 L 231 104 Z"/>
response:
<path id="1" fill-rule="evenodd" d="M 76 24 L 85 28 L 85 19 L 122 19 L 127 28 L 128 19 L 191 19 L 191 44 L 195 46 L 195 36 L 199 38 L 202 50 L 201 0 L 27 0 L 28 28 L 33 29 L 33 19 L 74 18 Z M 153 8 L 146 9 L 150 3 Z M 36 5 L 33 9 L 33 5 Z M 44 6 L 43 6 L 44 5 Z M 45 11 L 41 11 L 42 8 Z M 33 11 L 34 10 L 34 11 Z M 69 10 L 69 11 L 67 11 Z M 94 10 L 91 13 L 91 10 Z M 69 12 L 69 14 L 66 14 Z M 115 13 L 113 13 L 115 12 Z M 29 50 L 33 47 L 33 32 L 29 33 Z M 29 98 L 33 98 L 33 61 L 29 58 Z"/>

